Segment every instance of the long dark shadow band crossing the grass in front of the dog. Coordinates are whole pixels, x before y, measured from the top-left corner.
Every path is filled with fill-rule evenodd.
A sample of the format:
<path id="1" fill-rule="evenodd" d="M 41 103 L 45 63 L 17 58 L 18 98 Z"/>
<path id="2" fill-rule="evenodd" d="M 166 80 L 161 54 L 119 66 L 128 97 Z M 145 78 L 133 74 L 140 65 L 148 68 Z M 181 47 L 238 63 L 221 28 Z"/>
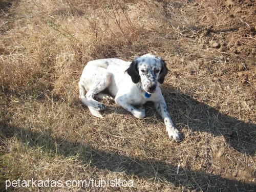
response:
<path id="1" fill-rule="evenodd" d="M 174 186 L 182 187 L 183 189 L 196 188 L 202 191 L 215 191 L 218 187 L 223 191 L 253 191 L 255 187 L 237 180 L 222 178 L 218 175 L 189 170 L 186 167 L 177 167 L 162 160 L 139 159 L 116 152 L 101 151 L 90 146 L 90 143 L 76 143 L 68 139 L 53 137 L 51 132 L 37 132 L 23 129 L 23 127 L 15 127 L 7 120 L 0 121 L 0 136 L 3 140 L 15 137 L 24 145 L 40 148 L 46 153 L 51 152 L 52 154 L 55 152 L 56 155 L 63 157 L 77 156 L 78 154 L 78 159 L 81 163 L 91 167 L 109 170 L 110 172 L 125 173 L 129 177 L 146 178 L 152 182 L 172 183 Z M 178 169 L 179 172 L 177 171 Z M 5 172 L 9 172 L 9 170 L 2 170 L 2 179 L 7 180 L 9 178 L 5 178 Z M 152 180 L 152 178 L 154 179 Z M 134 183 L 135 189 L 136 185 Z"/>

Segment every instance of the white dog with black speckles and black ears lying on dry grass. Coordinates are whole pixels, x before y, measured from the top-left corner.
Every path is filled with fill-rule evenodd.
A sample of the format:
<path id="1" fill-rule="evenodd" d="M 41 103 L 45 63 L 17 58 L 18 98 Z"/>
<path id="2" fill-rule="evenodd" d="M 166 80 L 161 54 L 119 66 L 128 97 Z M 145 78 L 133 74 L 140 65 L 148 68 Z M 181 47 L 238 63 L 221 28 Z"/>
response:
<path id="1" fill-rule="evenodd" d="M 104 110 L 105 106 L 95 98 L 115 100 L 139 119 L 145 117 L 143 104 L 153 101 L 164 120 L 169 139 L 180 141 L 181 135 L 169 116 L 160 89 L 167 72 L 165 61 L 152 54 L 136 57 L 132 62 L 118 58 L 89 61 L 78 83 L 79 98 L 88 106 L 92 115 L 100 118 L 100 111 Z M 108 90 L 110 95 L 103 94 L 103 90 Z M 136 105 L 139 107 L 136 108 Z"/>

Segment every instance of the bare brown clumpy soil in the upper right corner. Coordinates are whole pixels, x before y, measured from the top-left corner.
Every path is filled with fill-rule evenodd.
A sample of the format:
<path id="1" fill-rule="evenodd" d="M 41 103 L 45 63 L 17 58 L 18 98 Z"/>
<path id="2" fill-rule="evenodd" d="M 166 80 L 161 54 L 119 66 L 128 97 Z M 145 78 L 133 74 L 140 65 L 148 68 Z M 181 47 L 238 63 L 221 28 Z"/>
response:
<path id="1" fill-rule="evenodd" d="M 255 99 L 255 1 L 188 1 L 187 4 L 194 7 L 187 14 L 195 17 L 196 22 L 195 26 L 182 31 L 184 36 L 202 49 L 216 49 L 221 59 L 231 66 L 227 78 L 239 81 Z M 207 69 L 216 62 L 220 60 L 202 63 L 202 68 Z M 216 76 L 221 75 L 218 73 Z"/>

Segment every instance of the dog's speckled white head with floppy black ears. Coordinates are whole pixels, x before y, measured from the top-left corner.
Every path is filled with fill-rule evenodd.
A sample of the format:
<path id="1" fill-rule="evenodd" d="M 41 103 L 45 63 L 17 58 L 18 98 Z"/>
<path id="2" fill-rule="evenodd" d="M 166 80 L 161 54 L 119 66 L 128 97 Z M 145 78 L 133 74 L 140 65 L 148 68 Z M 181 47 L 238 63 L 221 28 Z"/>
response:
<path id="1" fill-rule="evenodd" d="M 132 77 L 134 83 L 141 82 L 145 92 L 154 93 L 159 83 L 163 83 L 168 69 L 161 57 L 146 54 L 135 58 L 125 72 Z"/>

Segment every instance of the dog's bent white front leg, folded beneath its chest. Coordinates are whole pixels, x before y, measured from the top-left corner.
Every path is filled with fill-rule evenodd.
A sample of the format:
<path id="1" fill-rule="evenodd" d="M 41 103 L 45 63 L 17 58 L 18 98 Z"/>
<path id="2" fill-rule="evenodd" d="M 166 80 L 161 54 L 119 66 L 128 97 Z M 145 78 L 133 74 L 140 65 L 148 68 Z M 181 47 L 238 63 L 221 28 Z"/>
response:
<path id="1" fill-rule="evenodd" d="M 115 97 L 115 102 L 122 106 L 125 110 L 129 111 L 132 113 L 136 118 L 138 119 L 143 119 L 145 117 L 145 109 L 140 108 L 137 109 L 135 106 L 131 105 L 125 95 L 123 96 L 116 96 Z"/>

